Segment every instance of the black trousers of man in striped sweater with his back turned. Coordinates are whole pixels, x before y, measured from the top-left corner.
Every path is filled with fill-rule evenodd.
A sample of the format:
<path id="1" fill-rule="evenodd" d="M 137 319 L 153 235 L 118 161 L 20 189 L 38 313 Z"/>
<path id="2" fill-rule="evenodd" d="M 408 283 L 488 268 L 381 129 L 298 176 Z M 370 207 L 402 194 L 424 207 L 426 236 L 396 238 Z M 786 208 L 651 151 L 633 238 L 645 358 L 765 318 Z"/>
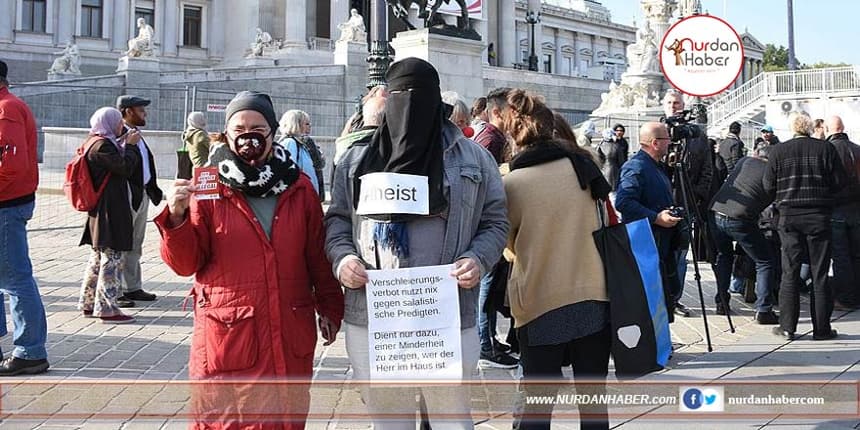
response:
<path id="1" fill-rule="evenodd" d="M 782 282 L 779 290 L 779 326 L 797 331 L 800 314 L 800 265 L 808 250 L 812 274 L 809 295 L 813 334 L 830 333 L 833 314 L 833 293 L 827 283 L 830 264 L 830 213 L 783 215 L 779 219 L 779 239 L 782 242 Z"/>

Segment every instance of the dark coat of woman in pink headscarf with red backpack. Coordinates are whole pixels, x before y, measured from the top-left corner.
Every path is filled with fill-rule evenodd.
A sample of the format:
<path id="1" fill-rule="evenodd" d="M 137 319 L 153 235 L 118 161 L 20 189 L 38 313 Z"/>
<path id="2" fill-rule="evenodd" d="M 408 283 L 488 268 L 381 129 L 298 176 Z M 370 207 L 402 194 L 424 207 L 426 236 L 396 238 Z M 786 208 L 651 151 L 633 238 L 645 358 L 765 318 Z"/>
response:
<path id="1" fill-rule="evenodd" d="M 140 151 L 128 145 L 121 153 L 113 142 L 102 139 L 87 152 L 87 166 L 96 186 L 104 181 L 108 173 L 111 173 L 111 177 L 98 205 L 89 212 L 80 244 L 114 251 L 131 251 L 134 234 L 128 184 L 134 171 L 140 167 Z"/>

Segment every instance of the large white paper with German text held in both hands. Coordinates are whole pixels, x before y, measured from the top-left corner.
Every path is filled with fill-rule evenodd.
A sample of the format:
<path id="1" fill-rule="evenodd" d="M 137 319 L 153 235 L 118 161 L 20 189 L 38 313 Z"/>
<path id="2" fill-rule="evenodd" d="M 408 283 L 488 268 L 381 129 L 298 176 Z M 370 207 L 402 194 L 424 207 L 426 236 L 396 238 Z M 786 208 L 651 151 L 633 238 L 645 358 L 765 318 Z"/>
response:
<path id="1" fill-rule="evenodd" d="M 463 377 L 453 265 L 368 270 L 370 379 Z"/>

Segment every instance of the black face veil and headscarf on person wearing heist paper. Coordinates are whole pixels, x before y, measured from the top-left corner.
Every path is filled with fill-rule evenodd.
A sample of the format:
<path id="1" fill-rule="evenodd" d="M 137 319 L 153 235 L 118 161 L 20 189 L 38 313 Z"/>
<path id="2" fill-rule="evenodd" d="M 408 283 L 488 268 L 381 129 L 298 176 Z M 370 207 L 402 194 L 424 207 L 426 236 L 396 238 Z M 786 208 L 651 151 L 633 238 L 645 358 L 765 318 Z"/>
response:
<path id="1" fill-rule="evenodd" d="M 355 171 L 353 206 L 358 207 L 361 177 L 390 172 L 426 176 L 430 185 L 430 213 L 439 214 L 445 200 L 442 168 L 442 97 L 439 74 L 419 58 L 406 58 L 385 74 L 389 96 L 382 123 Z M 372 218 L 403 222 L 414 216 L 389 214 Z"/>

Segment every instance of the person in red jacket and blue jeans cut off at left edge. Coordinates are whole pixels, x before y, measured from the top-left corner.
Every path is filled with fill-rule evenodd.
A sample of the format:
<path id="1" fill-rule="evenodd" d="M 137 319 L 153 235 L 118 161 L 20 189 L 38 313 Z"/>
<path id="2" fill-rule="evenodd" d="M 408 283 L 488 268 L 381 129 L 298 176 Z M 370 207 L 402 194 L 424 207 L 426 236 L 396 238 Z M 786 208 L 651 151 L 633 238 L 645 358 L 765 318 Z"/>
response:
<path id="1" fill-rule="evenodd" d="M 27 104 L 9 92 L 8 72 L 0 61 L 0 288 L 9 296 L 15 347 L 0 361 L 0 376 L 42 373 L 49 366 L 45 306 L 27 245 L 27 221 L 33 216 L 39 184 L 36 120 Z M 6 334 L 0 296 L 0 336 Z"/>

